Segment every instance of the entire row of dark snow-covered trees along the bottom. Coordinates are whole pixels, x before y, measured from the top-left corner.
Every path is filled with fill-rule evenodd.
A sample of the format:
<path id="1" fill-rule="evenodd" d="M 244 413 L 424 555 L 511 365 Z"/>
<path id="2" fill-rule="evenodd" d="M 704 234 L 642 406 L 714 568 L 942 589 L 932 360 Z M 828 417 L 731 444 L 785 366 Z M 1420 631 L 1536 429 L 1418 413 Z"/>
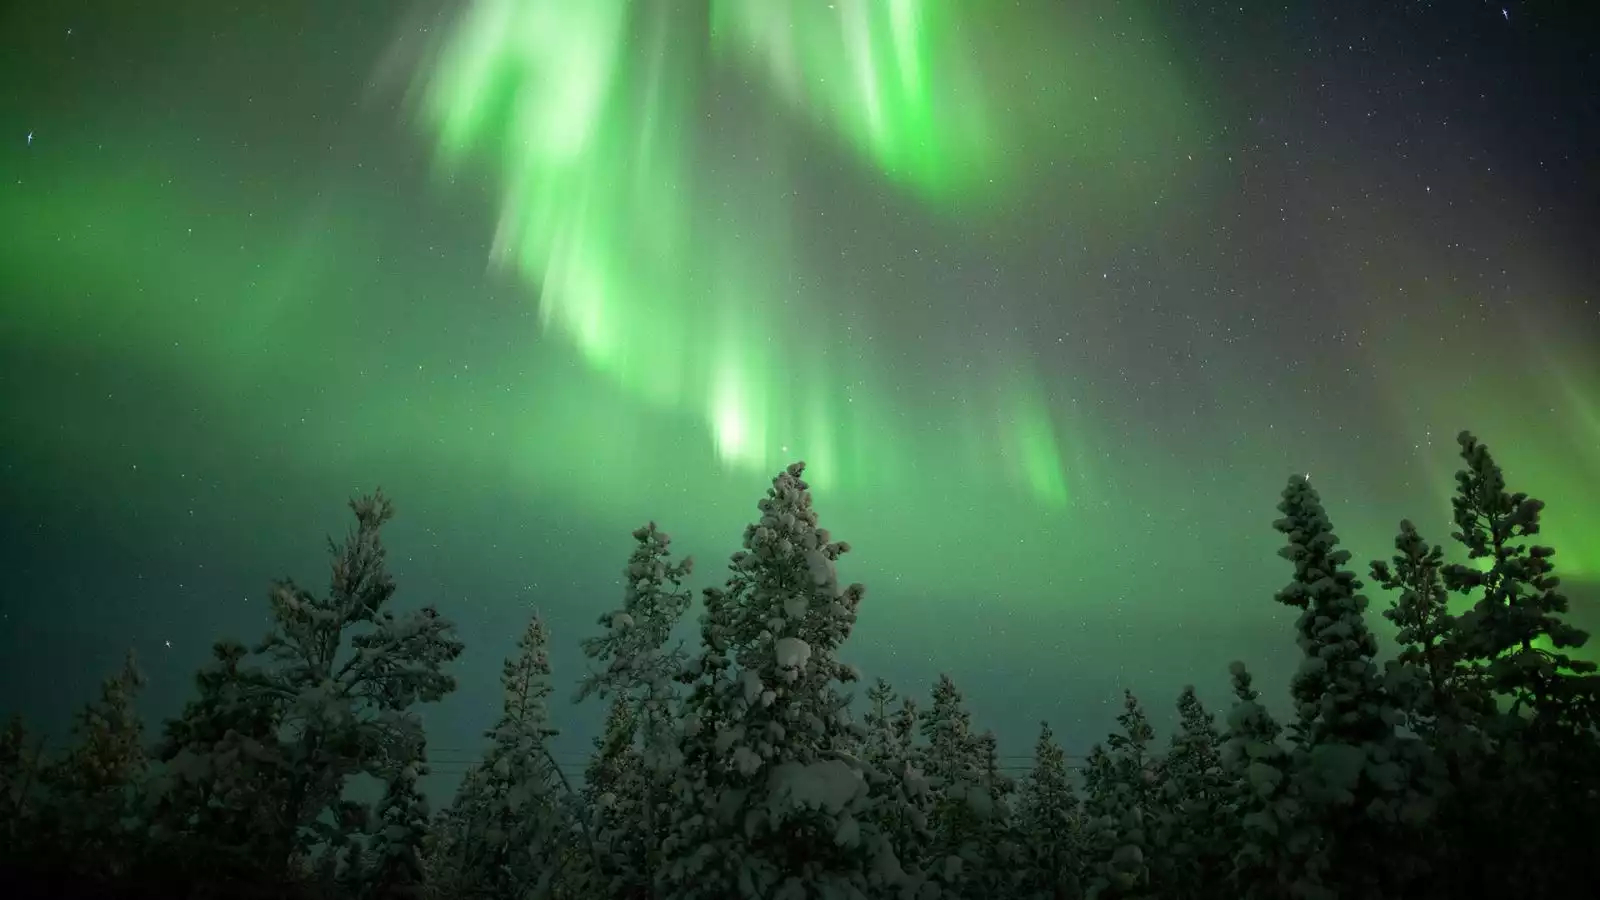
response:
<path id="1" fill-rule="evenodd" d="M 582 642 L 579 697 L 608 714 L 581 785 L 549 751 L 534 618 L 482 761 L 437 814 L 418 791 L 414 708 L 453 690 L 443 669 L 462 645 L 432 609 L 386 609 L 392 508 L 365 498 L 331 546 L 326 596 L 278 583 L 267 639 L 218 644 L 154 743 L 131 660 L 66 753 L 5 732 L 5 862 L 171 897 L 1582 895 L 1600 681 L 1570 655 L 1586 636 L 1562 620 L 1552 551 L 1526 543 L 1542 504 L 1459 440 L 1451 536 L 1470 564 L 1400 524 L 1392 560 L 1370 567 L 1398 629 L 1382 665 L 1350 554 L 1312 485 L 1290 479 L 1275 528 L 1293 575 L 1275 599 L 1299 610 L 1302 660 L 1286 722 L 1234 663 L 1222 722 L 1186 689 L 1162 743 L 1130 693 L 1082 778 L 1046 724 L 1014 781 L 949 677 L 925 709 L 877 681 L 853 711 L 859 674 L 838 650 L 862 588 L 838 581 L 850 548 L 818 527 L 795 464 L 704 591 L 698 649 L 672 641 L 690 560 L 654 525 L 634 532 L 622 605 Z M 381 801 L 352 801 L 357 777 L 381 781 Z"/>

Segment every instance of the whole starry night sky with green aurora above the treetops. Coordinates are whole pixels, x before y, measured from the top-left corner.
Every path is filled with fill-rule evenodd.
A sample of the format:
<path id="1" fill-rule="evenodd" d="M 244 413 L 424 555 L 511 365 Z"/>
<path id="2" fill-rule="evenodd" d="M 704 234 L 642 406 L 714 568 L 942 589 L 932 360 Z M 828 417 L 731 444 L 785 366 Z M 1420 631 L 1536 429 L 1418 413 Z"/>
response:
<path id="1" fill-rule="evenodd" d="M 720 583 L 792 460 L 846 658 L 1018 764 L 1234 658 L 1283 700 L 1286 476 L 1365 573 L 1462 428 L 1600 626 L 1584 6 L 6 3 L 0 713 L 130 645 L 174 713 L 382 485 L 448 777 L 534 607 L 565 693 L 629 532 Z"/>

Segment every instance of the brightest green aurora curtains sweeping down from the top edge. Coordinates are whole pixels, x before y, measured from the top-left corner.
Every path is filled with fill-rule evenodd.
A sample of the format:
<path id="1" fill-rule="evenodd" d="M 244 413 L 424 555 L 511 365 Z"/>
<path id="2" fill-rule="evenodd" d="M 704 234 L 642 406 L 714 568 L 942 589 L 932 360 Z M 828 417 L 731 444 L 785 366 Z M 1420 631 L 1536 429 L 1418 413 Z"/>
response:
<path id="1" fill-rule="evenodd" d="M 934 213 L 1003 197 L 1030 165 L 1027 151 L 1048 159 L 1067 144 L 1032 147 L 1022 135 L 1054 99 L 1062 115 L 1075 102 L 1043 88 L 1072 72 L 1027 40 L 1037 16 L 989 26 L 997 34 L 986 45 L 1032 54 L 998 67 L 976 59 L 958 30 L 976 30 L 973 10 L 477 3 L 422 72 L 422 119 L 451 175 L 474 155 L 493 160 L 502 191 L 494 253 L 538 287 L 541 322 L 640 400 L 698 420 L 722 463 L 765 472 L 805 456 L 819 487 L 851 492 L 918 463 L 960 466 L 973 471 L 963 480 L 1061 506 L 1078 466 L 1056 434 L 1082 436 L 1048 408 L 1016 341 L 976 354 L 997 357 L 1000 372 L 971 378 L 952 402 L 942 386 L 926 396 L 875 359 L 875 330 L 795 322 L 797 311 L 850 315 L 827 298 L 851 291 L 811 274 L 814 264 L 797 267 L 795 231 L 806 223 L 786 205 L 805 179 L 782 147 L 786 130 L 810 127 L 842 144 L 835 152 L 854 151 Z M 738 99 L 718 93 L 718 59 L 746 78 Z M 1006 78 L 1008 69 L 1032 78 Z M 987 101 L 1002 96 L 1003 106 Z M 1130 96 L 1179 106 L 1160 80 Z M 696 120 L 710 125 L 685 130 Z M 886 407 L 906 404 L 918 415 L 883 428 L 896 415 Z M 974 405 L 992 420 L 974 418 Z M 962 453 L 930 453 L 950 437 Z"/>

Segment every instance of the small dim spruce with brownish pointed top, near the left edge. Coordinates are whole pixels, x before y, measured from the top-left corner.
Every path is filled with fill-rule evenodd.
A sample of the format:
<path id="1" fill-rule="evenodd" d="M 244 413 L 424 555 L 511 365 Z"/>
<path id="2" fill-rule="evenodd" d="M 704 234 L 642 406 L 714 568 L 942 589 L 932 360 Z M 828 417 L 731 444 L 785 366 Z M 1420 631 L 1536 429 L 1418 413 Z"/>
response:
<path id="1" fill-rule="evenodd" d="M 138 791 L 149 761 L 134 709 L 144 674 L 130 650 L 99 700 L 78 713 L 67 751 L 43 767 L 50 802 L 37 822 L 37 862 L 62 874 L 117 879 L 138 852 Z"/>

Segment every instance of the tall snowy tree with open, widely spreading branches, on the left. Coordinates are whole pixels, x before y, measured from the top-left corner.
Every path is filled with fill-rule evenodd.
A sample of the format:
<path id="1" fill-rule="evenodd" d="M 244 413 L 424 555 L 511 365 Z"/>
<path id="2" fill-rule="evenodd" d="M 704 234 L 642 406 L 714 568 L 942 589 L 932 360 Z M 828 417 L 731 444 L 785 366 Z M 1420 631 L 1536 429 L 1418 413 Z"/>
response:
<path id="1" fill-rule="evenodd" d="M 397 617 L 381 530 L 394 504 L 378 492 L 350 501 L 355 527 L 333 557 L 328 594 L 291 580 L 272 591 L 274 628 L 248 671 L 251 692 L 283 705 L 264 756 L 285 773 L 272 828 L 256 839 L 282 878 L 314 847 L 338 849 L 363 807 L 344 799 L 350 775 L 382 777 L 394 748 L 421 740 L 416 703 L 442 700 L 456 682 L 443 666 L 461 655 L 454 626 L 434 607 Z"/>

